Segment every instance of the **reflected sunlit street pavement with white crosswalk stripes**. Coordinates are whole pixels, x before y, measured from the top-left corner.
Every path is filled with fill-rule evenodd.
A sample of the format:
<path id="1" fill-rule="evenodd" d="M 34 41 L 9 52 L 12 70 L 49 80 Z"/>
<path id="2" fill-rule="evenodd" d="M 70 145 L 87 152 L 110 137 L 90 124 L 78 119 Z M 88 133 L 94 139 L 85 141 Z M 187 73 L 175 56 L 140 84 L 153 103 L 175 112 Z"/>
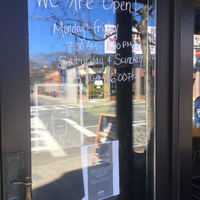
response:
<path id="1" fill-rule="evenodd" d="M 67 104 L 61 98 L 42 95 L 38 100 L 35 106 L 31 99 L 34 195 L 36 188 L 82 168 L 80 145 L 94 144 L 100 113 L 106 107 L 107 113 L 115 114 L 116 107 L 115 102 L 101 100 Z M 133 130 L 134 146 L 144 146 L 144 102 L 134 103 Z"/>

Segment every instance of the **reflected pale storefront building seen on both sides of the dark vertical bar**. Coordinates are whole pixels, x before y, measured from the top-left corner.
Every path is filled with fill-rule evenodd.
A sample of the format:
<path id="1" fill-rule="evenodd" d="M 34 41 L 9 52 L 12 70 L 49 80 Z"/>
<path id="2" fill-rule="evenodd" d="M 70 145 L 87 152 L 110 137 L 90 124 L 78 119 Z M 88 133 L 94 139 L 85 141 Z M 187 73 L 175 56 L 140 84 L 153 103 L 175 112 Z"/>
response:
<path id="1" fill-rule="evenodd" d="M 145 97 L 143 58 L 135 55 L 134 60 L 132 74 L 128 76 L 133 81 L 133 98 L 139 100 Z M 79 62 L 82 64 L 75 65 L 66 61 L 60 63 L 62 69 L 66 70 L 67 83 L 83 84 L 83 99 L 115 100 L 116 83 L 123 81 L 123 78 L 116 74 L 114 55 L 91 54 Z M 154 77 L 154 70 L 152 75 Z"/>

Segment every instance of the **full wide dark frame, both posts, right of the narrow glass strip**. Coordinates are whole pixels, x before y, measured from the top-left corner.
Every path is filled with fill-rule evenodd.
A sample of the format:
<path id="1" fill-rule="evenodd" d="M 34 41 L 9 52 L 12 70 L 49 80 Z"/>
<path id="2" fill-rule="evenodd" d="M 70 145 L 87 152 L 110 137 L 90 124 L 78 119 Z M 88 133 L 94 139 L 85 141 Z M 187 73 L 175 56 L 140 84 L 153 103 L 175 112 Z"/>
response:
<path id="1" fill-rule="evenodd" d="M 157 200 L 191 199 L 193 34 L 193 1 L 157 1 Z"/>

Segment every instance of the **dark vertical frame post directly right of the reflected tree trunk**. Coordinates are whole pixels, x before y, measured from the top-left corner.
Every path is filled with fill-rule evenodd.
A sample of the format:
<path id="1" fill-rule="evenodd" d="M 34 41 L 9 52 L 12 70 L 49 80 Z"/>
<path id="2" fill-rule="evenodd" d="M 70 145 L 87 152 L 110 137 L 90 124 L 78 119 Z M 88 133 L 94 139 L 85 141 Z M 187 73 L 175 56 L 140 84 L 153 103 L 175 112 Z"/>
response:
<path id="1" fill-rule="evenodd" d="M 156 46 L 156 199 L 171 199 L 170 69 L 171 4 L 157 1 Z M 165 38 L 165 39 L 163 39 Z M 162 94 L 162 95 L 160 95 Z M 162 112 L 160 112 L 162 110 Z M 162 162 L 160 162 L 162 160 Z M 161 178 L 162 177 L 162 178 Z"/>

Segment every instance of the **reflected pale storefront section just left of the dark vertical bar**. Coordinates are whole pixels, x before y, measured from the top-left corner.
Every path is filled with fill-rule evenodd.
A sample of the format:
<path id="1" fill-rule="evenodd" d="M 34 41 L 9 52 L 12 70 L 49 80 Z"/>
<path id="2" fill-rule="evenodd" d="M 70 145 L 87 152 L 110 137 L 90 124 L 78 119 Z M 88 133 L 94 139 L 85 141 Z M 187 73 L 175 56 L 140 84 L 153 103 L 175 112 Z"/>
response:
<path id="1" fill-rule="evenodd" d="M 61 62 L 60 65 L 66 69 L 68 84 L 83 85 L 83 99 L 110 99 L 110 77 L 114 73 L 112 59 L 108 55 L 91 54 L 80 59 L 78 64 Z"/>

